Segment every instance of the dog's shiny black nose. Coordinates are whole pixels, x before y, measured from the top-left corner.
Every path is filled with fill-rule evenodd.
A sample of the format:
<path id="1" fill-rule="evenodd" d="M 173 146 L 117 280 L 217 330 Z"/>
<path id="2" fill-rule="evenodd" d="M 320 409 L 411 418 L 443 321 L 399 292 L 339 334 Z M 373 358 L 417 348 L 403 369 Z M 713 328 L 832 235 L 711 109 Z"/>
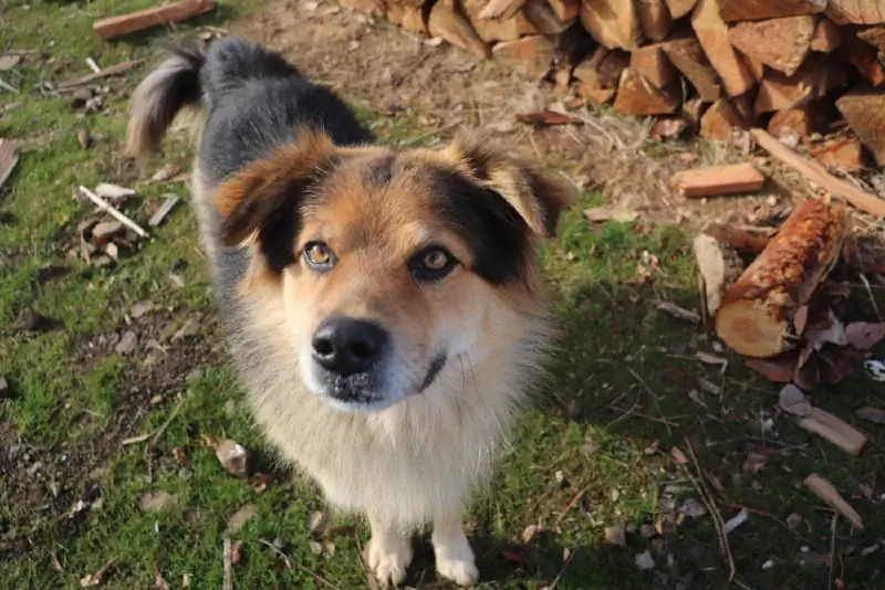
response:
<path id="1" fill-rule="evenodd" d="M 372 322 L 333 317 L 320 326 L 312 344 L 316 362 L 346 377 L 368 370 L 384 352 L 387 333 Z"/>

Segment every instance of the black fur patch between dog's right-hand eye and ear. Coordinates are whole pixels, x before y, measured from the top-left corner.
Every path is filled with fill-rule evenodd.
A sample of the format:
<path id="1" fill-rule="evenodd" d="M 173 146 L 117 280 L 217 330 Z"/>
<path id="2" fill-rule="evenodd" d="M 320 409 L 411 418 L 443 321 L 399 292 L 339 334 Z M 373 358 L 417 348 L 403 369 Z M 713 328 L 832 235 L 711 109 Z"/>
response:
<path id="1" fill-rule="evenodd" d="M 497 192 L 455 171 L 435 168 L 433 178 L 431 206 L 473 253 L 470 270 L 496 284 L 524 278 L 531 241 L 519 213 Z"/>

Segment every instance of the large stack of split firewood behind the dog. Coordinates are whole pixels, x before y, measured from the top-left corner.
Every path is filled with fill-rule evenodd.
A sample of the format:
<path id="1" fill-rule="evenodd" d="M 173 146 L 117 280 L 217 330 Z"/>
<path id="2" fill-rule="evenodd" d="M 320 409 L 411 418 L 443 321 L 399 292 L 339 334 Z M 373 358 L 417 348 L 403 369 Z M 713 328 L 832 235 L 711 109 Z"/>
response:
<path id="1" fill-rule="evenodd" d="M 768 126 L 822 164 L 885 164 L 885 0 L 341 1 L 479 57 L 545 62 L 624 115 L 714 140 Z"/>

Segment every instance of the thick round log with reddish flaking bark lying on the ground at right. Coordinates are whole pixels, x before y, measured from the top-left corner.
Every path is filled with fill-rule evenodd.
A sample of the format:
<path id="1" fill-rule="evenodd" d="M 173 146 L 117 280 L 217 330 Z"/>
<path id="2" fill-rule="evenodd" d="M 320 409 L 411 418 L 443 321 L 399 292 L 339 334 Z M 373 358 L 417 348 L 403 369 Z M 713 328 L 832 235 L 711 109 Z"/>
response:
<path id="1" fill-rule="evenodd" d="M 719 338 L 753 358 L 790 349 L 793 317 L 839 260 L 848 222 L 842 207 L 819 200 L 800 204 L 726 291 L 715 320 Z"/>

